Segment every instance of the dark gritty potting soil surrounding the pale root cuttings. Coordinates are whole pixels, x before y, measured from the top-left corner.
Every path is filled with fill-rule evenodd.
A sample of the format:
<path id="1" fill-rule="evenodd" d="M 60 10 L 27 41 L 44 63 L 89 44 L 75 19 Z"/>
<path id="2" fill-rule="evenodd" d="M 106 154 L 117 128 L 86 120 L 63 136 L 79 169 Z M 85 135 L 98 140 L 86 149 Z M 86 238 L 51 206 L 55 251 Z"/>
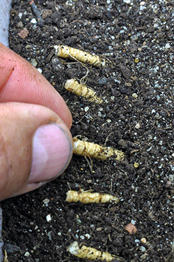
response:
<path id="1" fill-rule="evenodd" d="M 73 156 L 65 173 L 45 187 L 3 201 L 8 261 L 70 261 L 74 240 L 125 261 L 174 261 L 173 1 L 13 1 L 10 48 L 31 62 L 60 92 L 73 117 L 72 135 L 125 152 L 122 162 Z M 22 29 L 29 35 L 17 35 Z M 95 68 L 60 59 L 54 45 L 98 54 L 113 64 Z M 36 65 L 37 64 L 37 65 Z M 104 103 L 63 87 L 80 80 Z M 138 164 L 136 164 L 138 163 Z M 137 167 L 138 166 L 138 167 Z M 69 189 L 111 192 L 120 203 L 67 203 Z M 46 220 L 47 215 L 51 220 Z M 136 234 L 125 226 L 132 223 Z M 142 242 L 145 238 L 147 242 Z"/>

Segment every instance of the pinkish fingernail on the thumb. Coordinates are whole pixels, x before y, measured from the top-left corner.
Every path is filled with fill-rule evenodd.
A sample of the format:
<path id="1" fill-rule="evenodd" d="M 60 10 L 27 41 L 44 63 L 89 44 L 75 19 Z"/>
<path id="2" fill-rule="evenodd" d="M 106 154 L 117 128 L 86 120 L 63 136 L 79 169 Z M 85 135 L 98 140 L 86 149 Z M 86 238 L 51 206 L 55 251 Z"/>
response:
<path id="1" fill-rule="evenodd" d="M 40 126 L 33 136 L 30 183 L 52 180 L 61 175 L 72 157 L 72 143 L 56 123 Z"/>

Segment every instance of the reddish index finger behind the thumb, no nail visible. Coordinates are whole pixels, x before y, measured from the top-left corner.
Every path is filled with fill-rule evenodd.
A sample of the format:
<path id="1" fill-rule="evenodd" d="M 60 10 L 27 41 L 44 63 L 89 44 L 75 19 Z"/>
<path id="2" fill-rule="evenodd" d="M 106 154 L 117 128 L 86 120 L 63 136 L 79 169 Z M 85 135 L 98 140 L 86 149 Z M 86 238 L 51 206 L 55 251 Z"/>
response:
<path id="1" fill-rule="evenodd" d="M 68 106 L 49 82 L 28 61 L 0 43 L 0 103 L 22 102 L 52 109 L 69 127 Z"/>

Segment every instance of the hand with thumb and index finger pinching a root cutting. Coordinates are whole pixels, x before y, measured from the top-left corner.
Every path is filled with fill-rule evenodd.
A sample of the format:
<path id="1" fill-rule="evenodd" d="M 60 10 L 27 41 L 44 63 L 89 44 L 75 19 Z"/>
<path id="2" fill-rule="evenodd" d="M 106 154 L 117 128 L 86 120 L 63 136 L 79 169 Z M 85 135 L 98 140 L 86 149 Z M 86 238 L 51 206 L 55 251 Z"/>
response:
<path id="1" fill-rule="evenodd" d="M 71 124 L 60 94 L 0 43 L 0 201 L 63 173 L 72 157 Z"/>

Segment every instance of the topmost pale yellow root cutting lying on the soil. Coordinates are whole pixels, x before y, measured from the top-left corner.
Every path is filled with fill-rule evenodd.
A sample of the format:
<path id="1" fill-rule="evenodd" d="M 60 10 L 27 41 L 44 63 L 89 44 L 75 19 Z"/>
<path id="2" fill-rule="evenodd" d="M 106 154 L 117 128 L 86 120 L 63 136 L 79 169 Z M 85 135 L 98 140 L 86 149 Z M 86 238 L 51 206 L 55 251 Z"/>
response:
<path id="1" fill-rule="evenodd" d="M 71 58 L 97 67 L 106 66 L 106 60 L 101 59 L 96 54 L 89 54 L 88 52 L 76 48 L 70 48 L 66 45 L 55 45 L 54 48 L 58 57 Z"/>

